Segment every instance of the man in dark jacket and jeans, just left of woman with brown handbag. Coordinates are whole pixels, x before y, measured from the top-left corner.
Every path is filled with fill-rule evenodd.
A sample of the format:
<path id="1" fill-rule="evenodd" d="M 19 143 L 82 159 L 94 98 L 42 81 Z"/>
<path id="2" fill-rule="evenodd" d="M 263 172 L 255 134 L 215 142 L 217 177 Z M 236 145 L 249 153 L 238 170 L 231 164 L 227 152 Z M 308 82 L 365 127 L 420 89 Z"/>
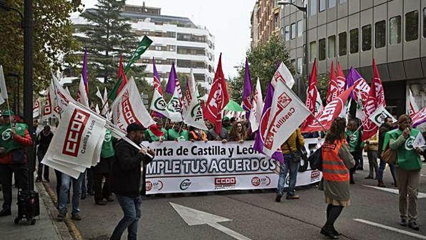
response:
<path id="1" fill-rule="evenodd" d="M 384 123 L 379 128 L 379 159 L 380 159 L 380 165 L 379 165 L 379 171 L 377 173 L 377 179 L 378 179 L 378 186 L 382 188 L 386 188 L 386 186 L 383 183 L 383 172 L 386 167 L 386 162 L 381 160 L 381 152 L 383 149 L 383 141 L 384 141 L 384 135 L 386 132 L 392 130 L 395 128 L 395 124 L 392 122 L 392 118 L 387 117 L 384 120 Z M 395 178 L 395 166 L 392 164 L 389 164 L 389 168 L 391 169 L 392 177 L 394 178 L 394 185 L 396 186 L 396 178 Z"/>

